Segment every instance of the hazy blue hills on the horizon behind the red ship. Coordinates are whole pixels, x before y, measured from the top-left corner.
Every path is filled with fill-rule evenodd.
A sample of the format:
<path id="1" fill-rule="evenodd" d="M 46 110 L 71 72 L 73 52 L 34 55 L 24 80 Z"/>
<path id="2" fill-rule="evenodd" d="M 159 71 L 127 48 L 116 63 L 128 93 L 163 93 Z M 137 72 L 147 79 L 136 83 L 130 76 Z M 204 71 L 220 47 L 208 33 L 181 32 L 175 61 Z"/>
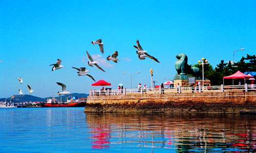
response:
<path id="1" fill-rule="evenodd" d="M 61 96 L 61 101 L 66 101 L 66 97 L 68 97 L 68 99 L 72 98 L 73 96 L 77 96 L 78 98 L 86 98 L 88 96 L 88 94 L 85 93 L 71 93 L 68 95 L 63 95 Z M 25 94 L 25 95 L 15 95 L 15 98 L 12 99 L 12 101 L 14 103 L 18 103 L 18 102 L 25 102 L 25 101 L 46 101 L 47 98 L 52 98 L 52 97 L 46 97 L 46 98 L 41 98 L 41 97 L 37 97 L 37 96 L 33 96 L 33 95 L 29 95 L 29 94 Z M 60 100 L 60 96 L 55 97 L 57 100 Z M 5 101 L 6 98 L 0 98 L 0 101 Z M 7 99 L 8 101 L 10 101 L 10 98 Z"/>

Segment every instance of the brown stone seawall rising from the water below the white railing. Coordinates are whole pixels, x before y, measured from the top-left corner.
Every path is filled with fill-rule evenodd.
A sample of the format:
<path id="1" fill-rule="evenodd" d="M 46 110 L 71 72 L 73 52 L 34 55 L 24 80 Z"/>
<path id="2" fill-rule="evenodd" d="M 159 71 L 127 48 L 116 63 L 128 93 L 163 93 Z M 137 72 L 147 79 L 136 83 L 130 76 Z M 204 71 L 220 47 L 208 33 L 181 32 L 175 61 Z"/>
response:
<path id="1" fill-rule="evenodd" d="M 134 94 L 88 96 L 84 112 L 239 113 L 256 112 L 256 92 Z"/>

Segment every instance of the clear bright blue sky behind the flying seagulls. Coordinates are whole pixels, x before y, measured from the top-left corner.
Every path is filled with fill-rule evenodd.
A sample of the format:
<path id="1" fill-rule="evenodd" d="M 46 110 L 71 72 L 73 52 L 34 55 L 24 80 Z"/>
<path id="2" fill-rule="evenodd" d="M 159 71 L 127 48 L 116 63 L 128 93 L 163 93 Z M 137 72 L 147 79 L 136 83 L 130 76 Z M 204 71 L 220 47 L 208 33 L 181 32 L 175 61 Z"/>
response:
<path id="1" fill-rule="evenodd" d="M 0 1 L 0 97 L 9 97 L 26 85 L 32 95 L 56 95 L 67 85 L 71 92 L 88 93 L 93 81 L 78 77 L 71 66 L 87 67 L 96 80 L 104 79 L 116 89 L 150 85 L 150 68 L 157 84 L 173 78 L 175 55 L 185 53 L 189 64 L 202 57 L 216 66 L 221 59 L 236 60 L 256 50 L 256 1 Z M 92 40 L 101 38 L 105 54 Z M 133 45 L 158 58 L 160 64 L 141 61 Z M 105 73 L 87 65 L 86 50 L 98 56 Z M 118 64 L 105 62 L 118 50 Z M 62 60 L 65 68 L 49 66 Z M 86 62 L 85 62 L 86 61 Z M 22 77 L 20 85 L 15 77 Z"/>

